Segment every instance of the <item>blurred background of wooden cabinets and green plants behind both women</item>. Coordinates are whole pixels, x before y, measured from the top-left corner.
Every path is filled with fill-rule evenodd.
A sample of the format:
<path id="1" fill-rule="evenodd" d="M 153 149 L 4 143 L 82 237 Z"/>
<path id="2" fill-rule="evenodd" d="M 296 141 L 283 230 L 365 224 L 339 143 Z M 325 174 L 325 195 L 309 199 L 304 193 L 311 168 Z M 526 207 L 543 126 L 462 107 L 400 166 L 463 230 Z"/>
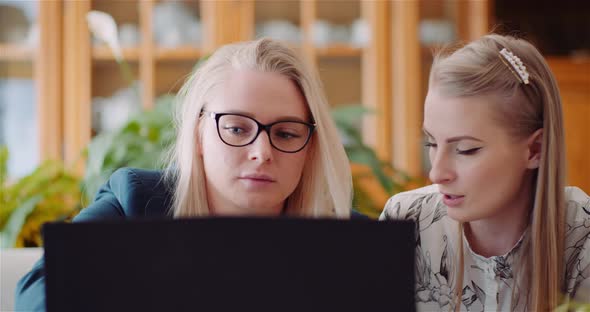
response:
<path id="1" fill-rule="evenodd" d="M 100 19 L 89 28 L 90 11 L 114 32 Z M 564 100 L 568 183 L 590 192 L 589 17 L 589 1 L 565 0 L 0 0 L 3 246 L 39 245 L 39 225 L 71 217 L 116 168 L 157 168 L 173 95 L 198 60 L 259 37 L 288 42 L 319 72 L 364 213 L 427 183 L 432 50 L 492 29 L 546 56 Z"/>

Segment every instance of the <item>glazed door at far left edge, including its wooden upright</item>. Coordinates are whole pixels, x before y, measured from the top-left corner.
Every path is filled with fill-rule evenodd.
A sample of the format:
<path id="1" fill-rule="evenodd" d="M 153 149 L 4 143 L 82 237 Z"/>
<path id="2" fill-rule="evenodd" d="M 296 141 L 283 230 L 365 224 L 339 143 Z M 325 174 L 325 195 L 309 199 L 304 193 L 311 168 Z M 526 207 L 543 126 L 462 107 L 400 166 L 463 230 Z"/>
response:
<path id="1" fill-rule="evenodd" d="M 0 0 L 0 145 L 11 179 L 62 159 L 62 2 Z"/>

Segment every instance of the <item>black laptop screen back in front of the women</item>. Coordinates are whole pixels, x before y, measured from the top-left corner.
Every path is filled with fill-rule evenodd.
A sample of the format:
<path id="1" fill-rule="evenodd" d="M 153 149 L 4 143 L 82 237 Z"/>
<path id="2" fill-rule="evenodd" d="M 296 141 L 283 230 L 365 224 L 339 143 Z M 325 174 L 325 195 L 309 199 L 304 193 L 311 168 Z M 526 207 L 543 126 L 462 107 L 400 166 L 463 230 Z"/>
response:
<path id="1" fill-rule="evenodd" d="M 414 311 L 411 221 L 47 224 L 47 310 Z"/>

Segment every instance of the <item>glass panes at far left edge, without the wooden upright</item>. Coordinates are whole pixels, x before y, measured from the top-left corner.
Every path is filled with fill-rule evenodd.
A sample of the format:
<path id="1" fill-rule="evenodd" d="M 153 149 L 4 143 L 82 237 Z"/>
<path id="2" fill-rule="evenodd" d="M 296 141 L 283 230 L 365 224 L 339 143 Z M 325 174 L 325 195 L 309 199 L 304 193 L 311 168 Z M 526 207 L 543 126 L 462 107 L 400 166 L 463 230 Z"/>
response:
<path id="1" fill-rule="evenodd" d="M 37 3 L 0 1 L 0 145 L 9 151 L 10 178 L 30 173 L 40 160 L 38 43 Z"/>

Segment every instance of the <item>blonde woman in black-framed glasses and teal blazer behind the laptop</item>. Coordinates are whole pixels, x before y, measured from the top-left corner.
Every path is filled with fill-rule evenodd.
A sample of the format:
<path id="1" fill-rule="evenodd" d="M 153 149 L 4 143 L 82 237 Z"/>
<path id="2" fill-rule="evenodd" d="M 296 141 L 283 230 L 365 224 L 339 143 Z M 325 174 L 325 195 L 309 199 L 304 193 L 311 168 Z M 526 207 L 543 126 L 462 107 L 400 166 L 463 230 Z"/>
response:
<path id="1" fill-rule="evenodd" d="M 116 171 L 74 222 L 350 217 L 350 165 L 319 78 L 285 45 L 261 39 L 220 48 L 178 99 L 166 171 Z M 44 310 L 44 288 L 39 262 L 17 286 L 17 309 Z"/>

